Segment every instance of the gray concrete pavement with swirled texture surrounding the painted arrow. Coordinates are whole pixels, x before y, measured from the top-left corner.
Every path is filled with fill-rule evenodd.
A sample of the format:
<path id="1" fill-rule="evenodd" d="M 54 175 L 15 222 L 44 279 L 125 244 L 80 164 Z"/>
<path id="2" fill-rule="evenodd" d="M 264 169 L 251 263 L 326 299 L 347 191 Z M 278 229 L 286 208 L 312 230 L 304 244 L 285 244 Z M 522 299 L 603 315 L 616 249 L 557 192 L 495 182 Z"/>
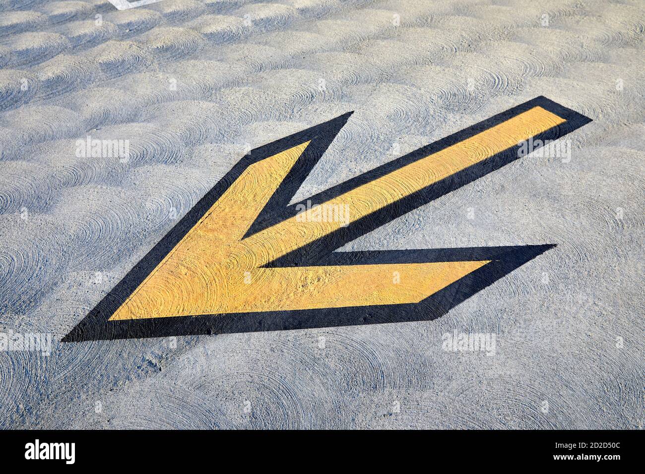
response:
<path id="1" fill-rule="evenodd" d="M 53 335 L 0 352 L 0 427 L 642 428 L 642 1 L 0 9 L 0 330 Z M 530 155 L 343 249 L 557 244 L 448 315 L 59 342 L 249 146 L 355 110 L 301 199 L 538 95 L 593 119 L 568 163 Z M 130 160 L 77 157 L 86 135 Z M 442 350 L 455 330 L 495 356 Z"/>

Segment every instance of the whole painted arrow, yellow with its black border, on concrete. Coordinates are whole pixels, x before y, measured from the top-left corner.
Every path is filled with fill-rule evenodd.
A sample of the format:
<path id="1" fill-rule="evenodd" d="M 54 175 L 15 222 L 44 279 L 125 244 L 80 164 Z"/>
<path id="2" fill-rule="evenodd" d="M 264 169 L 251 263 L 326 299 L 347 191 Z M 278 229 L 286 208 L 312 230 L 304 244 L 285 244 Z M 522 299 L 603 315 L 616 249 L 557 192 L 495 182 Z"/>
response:
<path id="1" fill-rule="evenodd" d="M 374 257 L 333 250 L 431 201 L 434 185 L 476 174 L 493 158 L 499 168 L 517 159 L 523 141 L 560 137 L 589 121 L 548 99 L 534 99 L 448 137 L 442 146 L 424 147 L 341 184 L 331 195 L 321 193 L 323 199 L 315 201 L 320 204 L 293 213 L 286 203 L 347 118 L 261 148 L 259 159 L 233 169 L 66 340 L 342 325 L 355 319 L 330 310 L 380 313 L 429 301 L 439 314 L 465 299 L 462 293 L 479 291 L 477 278 L 490 284 L 495 277 L 489 273 L 500 273 L 501 265 L 511 271 L 550 246 L 504 248 L 506 253 L 489 248 L 491 255 L 462 252 L 461 258 L 450 250 L 446 258 L 421 250 L 426 254 L 419 258 L 411 256 L 415 251 Z M 284 188 L 292 182 L 292 189 Z M 314 219 L 323 209 L 347 213 L 344 219 Z M 435 304 L 441 300 L 435 295 L 444 293 L 451 301 Z M 160 322 L 165 320 L 172 322 Z"/>

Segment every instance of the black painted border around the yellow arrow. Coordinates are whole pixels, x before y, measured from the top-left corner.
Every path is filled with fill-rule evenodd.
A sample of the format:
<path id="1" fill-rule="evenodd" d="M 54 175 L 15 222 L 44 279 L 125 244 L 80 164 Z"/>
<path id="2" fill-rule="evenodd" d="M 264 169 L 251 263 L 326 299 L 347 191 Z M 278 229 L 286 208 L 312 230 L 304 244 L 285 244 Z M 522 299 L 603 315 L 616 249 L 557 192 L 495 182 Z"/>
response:
<path id="1" fill-rule="evenodd" d="M 383 164 L 369 172 L 350 179 L 307 200 L 323 203 L 361 184 L 368 183 L 382 175 L 397 170 L 406 164 L 413 163 L 436 153 L 439 150 L 459 143 L 464 139 L 487 130 L 492 126 L 507 121 L 515 115 L 530 108 L 541 106 L 558 115 L 566 122 L 554 126 L 546 132 L 535 135 L 533 140 L 555 140 L 590 123 L 591 119 L 561 106 L 546 97 L 536 97 L 531 101 L 513 107 L 490 119 L 453 133 L 428 146 Z M 257 313 L 227 313 L 223 315 L 198 315 L 163 317 L 154 319 L 137 319 L 108 321 L 114 311 L 130 296 L 139 284 L 152 272 L 157 264 L 175 245 L 193 228 L 199 219 L 219 199 L 226 189 L 237 179 L 250 164 L 257 163 L 266 157 L 311 141 L 301 157 L 293 165 L 283 183 L 273 193 L 257 219 L 250 226 L 246 236 L 260 232 L 277 222 L 284 221 L 297 213 L 298 202 L 288 205 L 290 199 L 300 188 L 313 166 L 321 159 L 324 152 L 348 121 L 352 112 L 343 114 L 328 122 L 313 126 L 283 139 L 273 141 L 255 150 L 241 159 L 224 177 L 215 184 L 204 197 L 168 232 L 150 252 L 110 291 L 95 308 L 77 324 L 63 342 L 94 341 L 105 339 L 132 339 L 143 337 L 167 337 L 173 335 L 194 335 L 213 333 L 239 333 L 251 331 L 275 331 L 304 328 L 325 328 L 330 326 L 352 326 L 358 324 L 377 324 L 384 322 L 432 321 L 444 315 L 457 304 L 470 298 L 478 291 L 504 277 L 522 264 L 537 257 L 555 244 L 479 247 L 479 248 L 444 248 L 427 250 L 386 250 L 378 252 L 334 252 L 347 242 L 361 235 L 372 232 L 383 224 L 397 219 L 427 204 L 437 197 L 449 193 L 465 184 L 498 170 L 502 166 L 520 157 L 519 145 L 497 153 L 492 157 L 455 173 L 446 179 L 428 186 L 408 197 L 404 197 L 389 206 L 352 222 L 311 242 L 283 257 L 270 262 L 268 267 L 284 266 L 324 266 L 345 264 L 375 263 L 412 263 L 437 261 L 473 261 L 491 260 L 489 264 L 471 272 L 441 291 L 414 304 L 395 304 L 378 306 L 350 306 L 346 308 L 326 308 L 322 310 L 264 311 Z"/>

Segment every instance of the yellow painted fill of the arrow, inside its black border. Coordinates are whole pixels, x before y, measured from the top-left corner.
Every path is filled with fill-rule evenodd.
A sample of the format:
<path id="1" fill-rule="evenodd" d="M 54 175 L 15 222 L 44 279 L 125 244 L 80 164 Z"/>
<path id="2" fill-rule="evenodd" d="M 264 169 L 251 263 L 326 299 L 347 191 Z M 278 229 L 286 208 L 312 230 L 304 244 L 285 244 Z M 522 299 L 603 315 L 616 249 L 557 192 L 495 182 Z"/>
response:
<path id="1" fill-rule="evenodd" d="M 536 106 L 244 238 L 309 142 L 251 164 L 110 321 L 419 302 L 489 261 L 263 266 L 564 121 Z"/>

